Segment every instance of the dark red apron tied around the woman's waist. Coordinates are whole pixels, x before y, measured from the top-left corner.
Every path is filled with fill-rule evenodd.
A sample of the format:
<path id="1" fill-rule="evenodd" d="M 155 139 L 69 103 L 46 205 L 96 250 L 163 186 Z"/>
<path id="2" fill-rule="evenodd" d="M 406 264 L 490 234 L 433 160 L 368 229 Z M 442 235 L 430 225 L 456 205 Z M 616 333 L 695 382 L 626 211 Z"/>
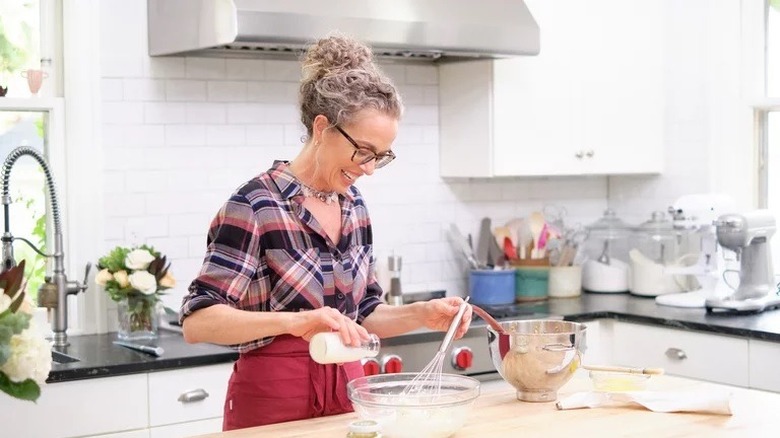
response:
<path id="1" fill-rule="evenodd" d="M 307 341 L 277 336 L 233 365 L 222 430 L 352 412 L 347 382 L 362 376 L 360 362 L 320 365 Z"/>

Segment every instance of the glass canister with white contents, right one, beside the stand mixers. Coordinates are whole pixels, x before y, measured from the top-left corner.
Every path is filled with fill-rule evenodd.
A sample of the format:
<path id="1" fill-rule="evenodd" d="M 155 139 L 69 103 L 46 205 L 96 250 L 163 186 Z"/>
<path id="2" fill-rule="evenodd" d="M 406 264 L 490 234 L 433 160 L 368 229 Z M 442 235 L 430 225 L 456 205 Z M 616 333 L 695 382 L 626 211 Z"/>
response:
<path id="1" fill-rule="evenodd" d="M 698 251 L 691 252 L 695 246 L 695 233 L 675 227 L 664 212 L 654 211 L 631 237 L 629 291 L 654 297 L 689 290 L 688 276 L 675 269 L 696 261 Z"/>

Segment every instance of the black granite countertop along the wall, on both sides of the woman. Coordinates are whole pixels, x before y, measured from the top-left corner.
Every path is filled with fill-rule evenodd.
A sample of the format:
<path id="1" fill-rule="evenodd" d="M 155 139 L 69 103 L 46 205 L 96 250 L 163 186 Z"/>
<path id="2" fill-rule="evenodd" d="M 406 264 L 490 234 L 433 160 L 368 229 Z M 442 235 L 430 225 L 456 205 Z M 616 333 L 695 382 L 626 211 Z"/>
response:
<path id="1" fill-rule="evenodd" d="M 610 318 L 780 342 L 780 310 L 749 315 L 707 314 L 703 308 L 659 306 L 652 298 L 629 294 L 591 293 L 576 298 L 554 298 L 520 306 L 527 307 L 526 310 L 534 315 L 559 315 L 570 321 Z M 114 345 L 114 340 L 116 333 L 71 336 L 71 345 L 60 351 L 78 358 L 79 361 L 55 363 L 48 382 L 212 365 L 235 361 L 238 358 L 238 353 L 228 347 L 187 344 L 181 334 L 169 331 L 161 330 L 160 337 L 149 343 L 163 347 L 165 352 L 160 357 Z M 392 341 L 388 345 L 390 344 Z"/>

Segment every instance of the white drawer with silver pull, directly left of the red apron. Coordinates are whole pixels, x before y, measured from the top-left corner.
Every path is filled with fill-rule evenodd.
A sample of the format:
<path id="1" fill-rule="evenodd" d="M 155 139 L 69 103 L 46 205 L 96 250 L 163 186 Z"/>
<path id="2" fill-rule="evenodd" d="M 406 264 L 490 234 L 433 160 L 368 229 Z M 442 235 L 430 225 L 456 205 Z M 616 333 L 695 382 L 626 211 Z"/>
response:
<path id="1" fill-rule="evenodd" d="M 233 364 L 181 368 L 149 374 L 149 425 L 151 427 L 219 419 Z"/>

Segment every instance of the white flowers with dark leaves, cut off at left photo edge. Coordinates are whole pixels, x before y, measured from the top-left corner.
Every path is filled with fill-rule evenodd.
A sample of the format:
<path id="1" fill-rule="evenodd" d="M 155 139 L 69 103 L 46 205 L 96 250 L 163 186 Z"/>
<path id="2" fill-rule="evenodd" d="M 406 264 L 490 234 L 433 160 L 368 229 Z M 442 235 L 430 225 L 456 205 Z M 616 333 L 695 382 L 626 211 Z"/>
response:
<path id="1" fill-rule="evenodd" d="M 0 274 L 0 390 L 35 401 L 51 371 L 51 346 L 32 320 L 23 277 L 24 261 Z"/>

